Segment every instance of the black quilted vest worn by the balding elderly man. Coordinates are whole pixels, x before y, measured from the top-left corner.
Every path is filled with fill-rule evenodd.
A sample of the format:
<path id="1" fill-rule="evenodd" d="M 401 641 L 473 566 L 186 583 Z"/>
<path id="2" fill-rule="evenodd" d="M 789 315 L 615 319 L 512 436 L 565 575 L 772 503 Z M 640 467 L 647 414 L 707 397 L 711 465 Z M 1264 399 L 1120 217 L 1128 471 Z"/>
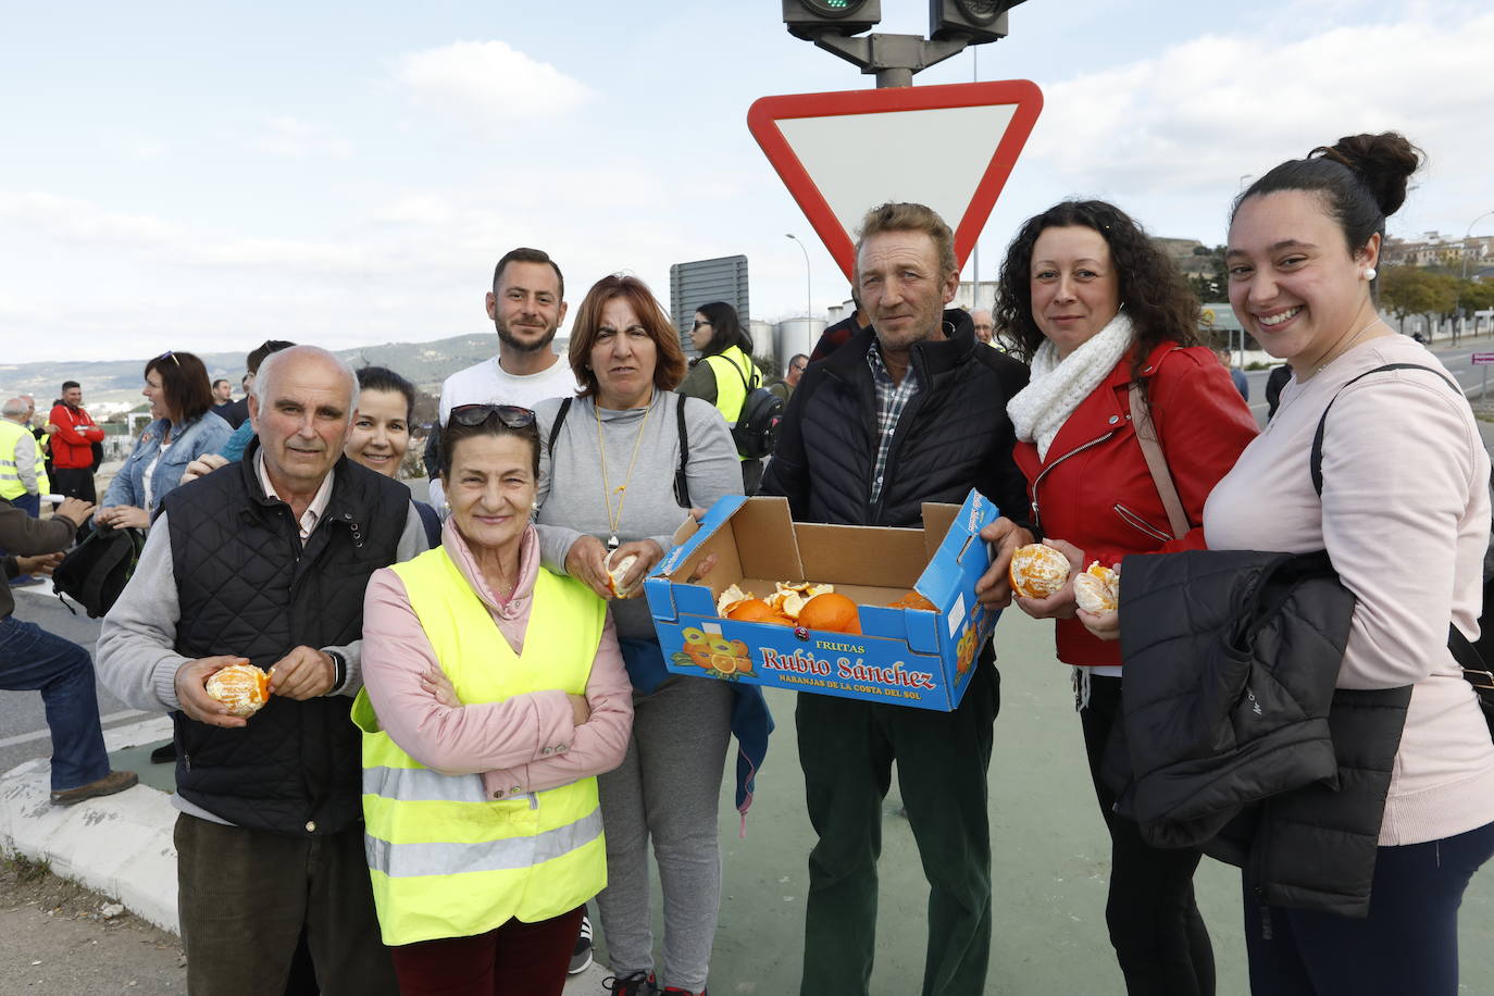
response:
<path id="1" fill-rule="evenodd" d="M 305 548 L 290 506 L 264 496 L 244 460 L 166 496 L 181 599 L 176 653 L 235 654 L 269 667 L 293 647 L 344 647 L 363 635 L 369 575 L 394 563 L 409 490 L 345 457 Z M 238 826 L 336 833 L 362 818 L 353 700 L 272 696 L 244 729 L 173 712 L 176 790 Z"/>

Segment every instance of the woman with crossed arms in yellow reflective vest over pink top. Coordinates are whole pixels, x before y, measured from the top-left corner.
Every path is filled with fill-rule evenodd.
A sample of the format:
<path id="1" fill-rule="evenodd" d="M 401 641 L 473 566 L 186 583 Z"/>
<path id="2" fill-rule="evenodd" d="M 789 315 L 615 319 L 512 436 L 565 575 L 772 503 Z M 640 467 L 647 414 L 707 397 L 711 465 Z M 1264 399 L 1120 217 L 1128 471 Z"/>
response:
<path id="1" fill-rule="evenodd" d="M 400 992 L 553 993 L 607 885 L 596 775 L 632 729 L 607 602 L 544 569 L 535 415 L 442 430 L 442 545 L 378 570 L 363 614 L 363 815 Z"/>

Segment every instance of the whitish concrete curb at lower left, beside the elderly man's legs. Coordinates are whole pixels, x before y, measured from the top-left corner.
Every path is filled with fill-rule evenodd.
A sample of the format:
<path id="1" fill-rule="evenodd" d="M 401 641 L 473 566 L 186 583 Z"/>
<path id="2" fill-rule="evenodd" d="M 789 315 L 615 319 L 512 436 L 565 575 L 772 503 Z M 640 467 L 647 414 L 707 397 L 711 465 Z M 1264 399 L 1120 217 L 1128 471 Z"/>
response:
<path id="1" fill-rule="evenodd" d="M 109 751 L 169 739 L 166 717 L 105 732 Z M 136 785 L 75 806 L 51 803 L 51 765 L 31 760 L 0 775 L 0 848 L 114 896 L 163 930 L 176 920 L 176 847 L 170 797 Z"/>

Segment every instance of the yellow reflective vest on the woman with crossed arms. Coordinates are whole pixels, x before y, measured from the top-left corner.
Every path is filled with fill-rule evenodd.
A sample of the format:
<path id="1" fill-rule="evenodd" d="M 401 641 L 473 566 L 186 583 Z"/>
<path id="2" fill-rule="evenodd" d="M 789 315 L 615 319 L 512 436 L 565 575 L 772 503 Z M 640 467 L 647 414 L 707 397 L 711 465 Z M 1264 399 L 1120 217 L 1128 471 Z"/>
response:
<path id="1" fill-rule="evenodd" d="M 524 650 L 514 654 L 445 550 L 393 570 L 463 703 L 584 694 L 607 621 L 607 603 L 587 585 L 541 569 Z M 353 721 L 363 730 L 365 851 L 384 944 L 548 920 L 607 887 L 596 778 L 489 799 L 481 775 L 442 775 L 402 751 L 368 690 Z"/>

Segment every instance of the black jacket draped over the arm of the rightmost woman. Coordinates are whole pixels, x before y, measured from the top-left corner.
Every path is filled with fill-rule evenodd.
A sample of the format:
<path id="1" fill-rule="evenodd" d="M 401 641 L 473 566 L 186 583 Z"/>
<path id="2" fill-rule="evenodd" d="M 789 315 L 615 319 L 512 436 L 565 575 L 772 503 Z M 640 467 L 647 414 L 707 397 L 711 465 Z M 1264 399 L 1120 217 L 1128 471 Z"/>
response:
<path id="1" fill-rule="evenodd" d="M 1363 917 L 1410 688 L 1334 688 L 1355 599 L 1325 553 L 1120 569 L 1118 809 L 1246 869 L 1256 899 Z"/>

